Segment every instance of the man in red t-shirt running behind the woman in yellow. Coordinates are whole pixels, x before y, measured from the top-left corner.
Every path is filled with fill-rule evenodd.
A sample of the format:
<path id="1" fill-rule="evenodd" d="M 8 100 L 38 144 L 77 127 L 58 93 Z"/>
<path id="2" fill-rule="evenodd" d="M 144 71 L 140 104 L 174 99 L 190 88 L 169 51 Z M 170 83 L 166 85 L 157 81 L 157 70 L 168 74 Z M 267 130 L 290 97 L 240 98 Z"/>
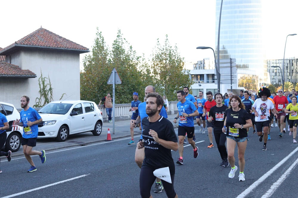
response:
<path id="1" fill-rule="evenodd" d="M 278 90 L 278 95 L 273 98 L 275 103 L 275 109 L 277 110 L 277 123 L 280 128 L 279 137 L 283 137 L 283 132 L 285 133 L 285 123 L 283 122 L 285 119 L 285 107 L 288 105 L 288 100 L 285 96 L 283 96 L 283 90 Z"/>

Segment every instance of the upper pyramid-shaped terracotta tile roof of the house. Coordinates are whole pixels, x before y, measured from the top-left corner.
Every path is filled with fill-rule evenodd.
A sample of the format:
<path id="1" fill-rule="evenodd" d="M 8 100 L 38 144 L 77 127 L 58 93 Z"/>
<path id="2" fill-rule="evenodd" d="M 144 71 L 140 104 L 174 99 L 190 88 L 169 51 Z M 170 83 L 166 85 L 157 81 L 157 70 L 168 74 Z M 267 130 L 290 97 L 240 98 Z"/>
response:
<path id="1" fill-rule="evenodd" d="M 5 47 L 3 50 L 10 48 L 13 45 L 28 45 L 37 47 L 55 47 L 72 50 L 89 50 L 87 47 L 72 42 L 66 38 L 59 36 L 45 28 L 39 28 L 36 31 L 28 34 L 15 43 Z M 1 51 L 1 50 L 0 50 Z"/>

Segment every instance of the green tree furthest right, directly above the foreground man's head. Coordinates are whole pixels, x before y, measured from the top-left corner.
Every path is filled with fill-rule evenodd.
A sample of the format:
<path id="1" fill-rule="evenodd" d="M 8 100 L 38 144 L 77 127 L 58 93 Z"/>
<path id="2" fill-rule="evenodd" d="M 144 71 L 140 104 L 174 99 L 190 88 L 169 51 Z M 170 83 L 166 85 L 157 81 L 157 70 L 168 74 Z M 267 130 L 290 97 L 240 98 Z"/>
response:
<path id="1" fill-rule="evenodd" d="M 169 101 L 176 100 L 176 91 L 193 84 L 189 70 L 184 68 L 178 47 L 172 47 L 166 35 L 163 44 L 157 39 L 151 59 L 151 75 L 156 91 L 167 95 Z"/>

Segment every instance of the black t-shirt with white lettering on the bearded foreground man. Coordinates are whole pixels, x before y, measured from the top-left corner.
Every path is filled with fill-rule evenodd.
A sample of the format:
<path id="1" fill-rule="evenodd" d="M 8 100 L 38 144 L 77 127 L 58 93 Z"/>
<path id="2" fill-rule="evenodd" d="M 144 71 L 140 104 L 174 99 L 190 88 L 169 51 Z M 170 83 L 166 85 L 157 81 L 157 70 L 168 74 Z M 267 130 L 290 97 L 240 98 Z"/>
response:
<path id="1" fill-rule="evenodd" d="M 143 118 L 143 142 L 145 148 L 145 159 L 143 165 L 148 165 L 154 170 L 169 167 L 170 174 L 175 174 L 175 165 L 172 158 L 171 149 L 164 148 L 155 142 L 153 137 L 149 135 L 149 130 L 154 130 L 160 139 L 172 142 L 178 142 L 173 124 L 164 117 L 156 122 L 149 122 L 148 117 Z"/>

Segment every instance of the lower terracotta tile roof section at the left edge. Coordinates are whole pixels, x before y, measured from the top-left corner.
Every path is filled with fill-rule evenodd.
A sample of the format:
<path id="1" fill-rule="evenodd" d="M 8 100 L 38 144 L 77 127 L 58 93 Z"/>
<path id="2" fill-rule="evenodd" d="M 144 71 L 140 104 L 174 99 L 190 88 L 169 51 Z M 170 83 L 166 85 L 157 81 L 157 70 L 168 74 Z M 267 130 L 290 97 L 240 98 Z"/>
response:
<path id="1" fill-rule="evenodd" d="M 28 69 L 21 69 L 16 65 L 9 64 L 6 62 L 0 62 L 0 77 L 7 77 L 7 76 L 14 76 L 14 77 L 36 77 L 36 74 L 31 72 Z"/>

